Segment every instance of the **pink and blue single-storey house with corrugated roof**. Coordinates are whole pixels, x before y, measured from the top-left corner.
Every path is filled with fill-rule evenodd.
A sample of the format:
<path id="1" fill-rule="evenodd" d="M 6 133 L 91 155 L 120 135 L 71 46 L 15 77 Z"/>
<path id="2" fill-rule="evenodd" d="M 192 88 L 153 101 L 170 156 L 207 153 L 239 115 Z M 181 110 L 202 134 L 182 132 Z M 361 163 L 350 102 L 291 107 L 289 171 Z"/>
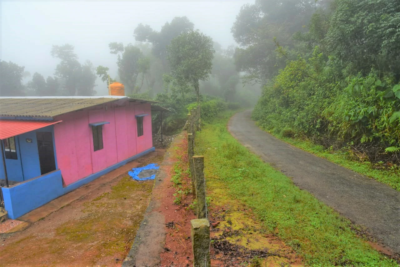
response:
<path id="1" fill-rule="evenodd" d="M 126 96 L 1 97 L 0 181 L 8 216 L 18 218 L 154 151 L 152 103 Z"/>

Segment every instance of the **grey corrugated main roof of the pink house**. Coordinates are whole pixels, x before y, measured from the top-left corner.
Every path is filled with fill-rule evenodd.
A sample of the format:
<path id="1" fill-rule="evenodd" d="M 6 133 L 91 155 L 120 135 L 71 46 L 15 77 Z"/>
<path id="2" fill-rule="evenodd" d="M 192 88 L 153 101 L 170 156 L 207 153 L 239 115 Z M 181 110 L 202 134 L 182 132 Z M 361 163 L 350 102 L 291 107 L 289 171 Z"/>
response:
<path id="1" fill-rule="evenodd" d="M 0 97 L 0 117 L 38 117 L 52 118 L 67 112 L 80 110 L 107 102 L 126 99 L 137 102 L 150 102 L 128 97 Z"/>

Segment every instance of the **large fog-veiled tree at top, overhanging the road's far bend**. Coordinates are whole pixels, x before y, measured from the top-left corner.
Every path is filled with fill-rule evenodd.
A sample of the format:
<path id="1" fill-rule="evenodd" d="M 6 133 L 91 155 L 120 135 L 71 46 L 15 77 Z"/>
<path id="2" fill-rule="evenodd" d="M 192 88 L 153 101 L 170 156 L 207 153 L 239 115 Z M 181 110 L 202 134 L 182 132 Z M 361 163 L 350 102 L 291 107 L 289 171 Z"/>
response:
<path id="1" fill-rule="evenodd" d="M 275 52 L 274 38 L 280 46 L 292 48 L 292 35 L 306 30 L 318 5 L 316 1 L 256 0 L 242 6 L 231 31 L 240 45 L 236 65 L 248 80 L 265 83 L 278 74 L 285 59 Z"/>

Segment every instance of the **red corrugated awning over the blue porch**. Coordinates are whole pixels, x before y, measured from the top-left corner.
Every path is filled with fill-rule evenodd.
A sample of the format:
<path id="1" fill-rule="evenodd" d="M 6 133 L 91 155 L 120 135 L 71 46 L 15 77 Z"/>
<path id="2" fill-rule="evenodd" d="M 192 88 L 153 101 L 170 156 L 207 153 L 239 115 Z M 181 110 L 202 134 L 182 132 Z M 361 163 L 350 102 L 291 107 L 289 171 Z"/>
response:
<path id="1" fill-rule="evenodd" d="M 62 120 L 0 120 L 0 140 L 37 130 Z"/>

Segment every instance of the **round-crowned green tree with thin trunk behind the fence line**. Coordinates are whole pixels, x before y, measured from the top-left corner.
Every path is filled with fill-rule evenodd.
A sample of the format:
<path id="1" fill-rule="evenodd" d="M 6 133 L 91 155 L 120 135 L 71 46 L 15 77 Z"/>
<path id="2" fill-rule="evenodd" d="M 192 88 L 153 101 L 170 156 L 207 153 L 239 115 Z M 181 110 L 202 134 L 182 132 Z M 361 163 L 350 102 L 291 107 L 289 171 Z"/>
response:
<path id="1" fill-rule="evenodd" d="M 200 101 L 199 80 L 207 80 L 214 58 L 212 39 L 199 30 L 180 34 L 168 46 L 171 75 L 178 84 L 192 84 Z"/>

